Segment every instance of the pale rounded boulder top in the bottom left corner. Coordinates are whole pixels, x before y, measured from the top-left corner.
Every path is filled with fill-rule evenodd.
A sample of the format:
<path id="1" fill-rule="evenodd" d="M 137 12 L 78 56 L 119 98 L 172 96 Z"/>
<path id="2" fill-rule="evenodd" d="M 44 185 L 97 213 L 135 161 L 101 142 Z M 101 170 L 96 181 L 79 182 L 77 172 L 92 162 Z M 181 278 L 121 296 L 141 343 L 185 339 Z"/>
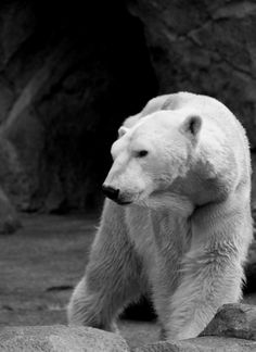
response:
<path id="1" fill-rule="evenodd" d="M 125 340 L 93 328 L 55 326 L 0 329 L 1 352 L 128 352 Z"/>

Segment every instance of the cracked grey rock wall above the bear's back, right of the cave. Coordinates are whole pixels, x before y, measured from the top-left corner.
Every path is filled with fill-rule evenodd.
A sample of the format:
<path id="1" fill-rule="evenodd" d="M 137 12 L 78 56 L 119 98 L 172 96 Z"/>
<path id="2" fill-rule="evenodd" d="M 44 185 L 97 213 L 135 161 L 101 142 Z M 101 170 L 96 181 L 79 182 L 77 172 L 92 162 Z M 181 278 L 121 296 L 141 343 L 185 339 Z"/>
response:
<path id="1" fill-rule="evenodd" d="M 223 101 L 256 147 L 256 3 L 236 0 L 129 1 L 144 25 L 159 91 Z"/>

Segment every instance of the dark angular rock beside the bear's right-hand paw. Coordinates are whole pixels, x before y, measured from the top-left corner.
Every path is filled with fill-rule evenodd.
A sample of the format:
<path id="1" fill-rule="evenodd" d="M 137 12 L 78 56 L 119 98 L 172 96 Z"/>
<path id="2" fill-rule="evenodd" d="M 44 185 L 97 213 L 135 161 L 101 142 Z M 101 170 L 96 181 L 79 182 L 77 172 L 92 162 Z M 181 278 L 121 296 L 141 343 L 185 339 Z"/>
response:
<path id="1" fill-rule="evenodd" d="M 256 306 L 225 304 L 201 336 L 225 336 L 256 341 Z"/>

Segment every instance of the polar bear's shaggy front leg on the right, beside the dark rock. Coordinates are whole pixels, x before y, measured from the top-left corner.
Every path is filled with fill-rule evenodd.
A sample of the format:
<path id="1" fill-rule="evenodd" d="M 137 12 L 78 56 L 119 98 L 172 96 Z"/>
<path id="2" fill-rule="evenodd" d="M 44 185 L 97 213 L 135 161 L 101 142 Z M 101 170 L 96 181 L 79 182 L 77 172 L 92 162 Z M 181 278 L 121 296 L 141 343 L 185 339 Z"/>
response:
<path id="1" fill-rule="evenodd" d="M 192 218 L 191 249 L 169 305 L 169 340 L 199 336 L 222 304 L 241 298 L 252 222 L 247 205 L 231 206 L 208 206 Z"/>

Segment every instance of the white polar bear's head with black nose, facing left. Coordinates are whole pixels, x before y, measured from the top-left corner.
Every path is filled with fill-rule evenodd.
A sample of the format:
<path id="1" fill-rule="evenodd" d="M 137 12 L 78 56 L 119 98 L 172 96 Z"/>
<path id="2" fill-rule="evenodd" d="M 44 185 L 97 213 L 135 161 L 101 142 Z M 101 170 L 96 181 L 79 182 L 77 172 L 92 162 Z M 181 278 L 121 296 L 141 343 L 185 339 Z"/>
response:
<path id="1" fill-rule="evenodd" d="M 199 144 L 202 118 L 191 110 L 157 111 L 119 128 L 113 165 L 103 184 L 118 204 L 150 206 L 185 176 Z"/>

